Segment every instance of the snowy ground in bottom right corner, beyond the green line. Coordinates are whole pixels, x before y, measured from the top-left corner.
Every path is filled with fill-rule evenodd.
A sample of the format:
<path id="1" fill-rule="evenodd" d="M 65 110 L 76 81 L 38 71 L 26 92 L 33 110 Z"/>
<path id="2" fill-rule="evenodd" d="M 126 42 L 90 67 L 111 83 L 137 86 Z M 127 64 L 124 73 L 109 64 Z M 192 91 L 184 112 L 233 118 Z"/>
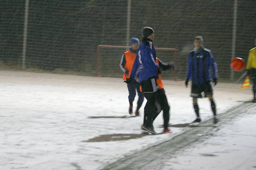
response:
<path id="1" fill-rule="evenodd" d="M 255 170 L 256 107 L 162 161 L 161 169 Z"/>

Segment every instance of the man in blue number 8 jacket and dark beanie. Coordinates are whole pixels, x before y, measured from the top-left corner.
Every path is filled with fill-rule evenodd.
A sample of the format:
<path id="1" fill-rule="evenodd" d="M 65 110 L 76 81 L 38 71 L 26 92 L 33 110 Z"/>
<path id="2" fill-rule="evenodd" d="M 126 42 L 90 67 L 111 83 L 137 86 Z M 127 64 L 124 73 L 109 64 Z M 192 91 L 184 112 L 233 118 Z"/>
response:
<path id="1" fill-rule="evenodd" d="M 156 97 L 159 95 L 159 87 L 156 84 L 156 79 L 158 78 L 158 64 L 156 63 L 156 51 L 153 45 L 155 35 L 154 30 L 150 27 L 144 27 L 142 34 L 142 44 L 137 50 L 136 59 L 133 63 L 130 75 L 131 80 L 129 81 L 135 81 L 135 75 L 139 76 L 143 95 L 147 99 L 147 103 L 144 107 L 145 121 L 141 129 L 156 134 L 156 131 L 152 128 L 153 115 L 156 112 Z"/>

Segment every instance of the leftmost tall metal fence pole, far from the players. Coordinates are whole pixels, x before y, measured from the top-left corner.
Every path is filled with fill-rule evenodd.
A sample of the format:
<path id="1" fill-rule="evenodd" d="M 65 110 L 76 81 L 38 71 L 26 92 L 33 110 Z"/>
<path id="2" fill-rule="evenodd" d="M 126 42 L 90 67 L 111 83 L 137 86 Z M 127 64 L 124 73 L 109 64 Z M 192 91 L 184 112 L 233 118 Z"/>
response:
<path id="1" fill-rule="evenodd" d="M 22 70 L 26 69 L 26 51 L 27 51 L 27 35 L 28 35 L 28 4 L 29 0 L 26 0 L 25 6 L 25 20 L 24 20 L 24 38 L 23 38 L 23 50 L 22 50 Z"/>

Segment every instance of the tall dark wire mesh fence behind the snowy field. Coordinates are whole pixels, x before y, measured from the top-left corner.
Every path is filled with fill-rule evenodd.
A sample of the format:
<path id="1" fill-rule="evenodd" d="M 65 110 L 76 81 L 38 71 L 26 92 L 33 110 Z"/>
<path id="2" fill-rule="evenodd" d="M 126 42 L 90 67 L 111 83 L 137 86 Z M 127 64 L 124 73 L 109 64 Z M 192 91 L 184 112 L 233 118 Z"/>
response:
<path id="1" fill-rule="evenodd" d="M 237 56 L 246 61 L 256 38 L 255 0 L 0 2 L 2 69 L 21 70 L 23 66 L 28 71 L 95 76 L 98 45 L 125 46 L 127 39 L 132 37 L 141 40 L 142 28 L 150 26 L 155 31 L 156 47 L 180 50 L 177 54 L 178 78 L 185 78 L 188 53 L 194 48 L 194 37 L 201 35 L 204 45 L 215 56 L 220 79 L 230 81 L 233 77 L 229 67 L 231 58 Z M 24 29 L 26 21 L 28 27 Z M 24 35 L 27 35 L 25 51 Z M 119 67 L 111 63 L 118 63 L 123 52 L 112 50 L 106 61 L 113 62 L 108 61 L 107 65 L 104 60 L 100 61 L 106 76 L 114 67 Z M 157 54 L 160 59 L 167 60 L 169 54 L 160 55 Z M 122 77 L 121 70 L 114 70 Z M 236 80 L 242 72 L 233 74 Z"/>

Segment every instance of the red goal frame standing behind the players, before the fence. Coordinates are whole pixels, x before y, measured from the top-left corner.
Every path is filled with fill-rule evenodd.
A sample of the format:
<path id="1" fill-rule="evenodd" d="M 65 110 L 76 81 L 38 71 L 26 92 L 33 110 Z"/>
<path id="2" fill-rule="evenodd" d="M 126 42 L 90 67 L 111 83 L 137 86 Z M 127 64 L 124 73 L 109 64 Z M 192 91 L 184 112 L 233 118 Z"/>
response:
<path id="1" fill-rule="evenodd" d="M 97 77 L 100 77 L 99 75 L 99 61 L 100 61 L 100 49 L 101 48 L 124 48 L 124 49 L 127 49 L 127 48 L 131 48 L 131 46 L 108 46 L 108 45 L 99 45 L 97 46 L 97 60 L 96 60 L 96 76 Z M 177 62 L 177 51 L 179 51 L 179 49 L 177 48 L 155 48 L 156 50 L 164 50 L 164 51 L 174 51 L 174 64 L 176 65 L 176 62 Z M 177 77 L 176 77 L 176 69 L 173 71 L 173 77 L 174 77 L 174 80 L 175 81 L 178 81 L 177 80 Z"/>

